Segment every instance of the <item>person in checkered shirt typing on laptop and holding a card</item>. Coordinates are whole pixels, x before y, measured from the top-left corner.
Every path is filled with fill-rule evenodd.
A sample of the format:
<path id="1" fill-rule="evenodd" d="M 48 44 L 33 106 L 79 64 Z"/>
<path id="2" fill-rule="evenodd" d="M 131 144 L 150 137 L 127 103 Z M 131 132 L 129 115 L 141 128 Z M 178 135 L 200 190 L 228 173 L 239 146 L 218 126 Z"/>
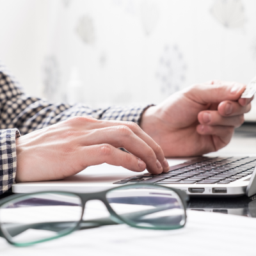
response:
<path id="1" fill-rule="evenodd" d="M 92 109 L 26 95 L 1 64 L 0 194 L 14 182 L 64 179 L 102 163 L 168 172 L 165 157 L 198 156 L 228 144 L 251 108 L 252 99 L 240 99 L 245 87 L 211 81 L 157 106 Z"/>

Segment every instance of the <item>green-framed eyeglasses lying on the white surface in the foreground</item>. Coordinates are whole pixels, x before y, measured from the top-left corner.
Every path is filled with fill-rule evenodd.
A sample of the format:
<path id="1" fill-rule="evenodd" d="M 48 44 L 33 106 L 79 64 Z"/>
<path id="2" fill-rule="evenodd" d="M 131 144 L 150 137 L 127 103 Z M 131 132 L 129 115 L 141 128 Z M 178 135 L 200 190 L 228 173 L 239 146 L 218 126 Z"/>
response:
<path id="1" fill-rule="evenodd" d="M 92 218 L 86 208 L 90 200 L 102 201 L 110 216 Z M 186 223 L 186 200 L 184 191 L 153 184 L 125 185 L 97 193 L 12 195 L 0 202 L 0 236 L 15 246 L 29 246 L 102 225 L 182 228 Z"/>

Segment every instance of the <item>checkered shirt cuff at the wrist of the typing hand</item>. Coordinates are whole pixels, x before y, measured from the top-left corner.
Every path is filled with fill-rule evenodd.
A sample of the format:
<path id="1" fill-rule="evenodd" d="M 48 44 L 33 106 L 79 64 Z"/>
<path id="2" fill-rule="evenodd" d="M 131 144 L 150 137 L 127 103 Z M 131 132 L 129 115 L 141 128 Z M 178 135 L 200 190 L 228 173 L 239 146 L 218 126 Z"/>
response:
<path id="1" fill-rule="evenodd" d="M 0 130 L 0 195 L 15 183 L 17 157 L 16 138 L 18 129 Z"/>

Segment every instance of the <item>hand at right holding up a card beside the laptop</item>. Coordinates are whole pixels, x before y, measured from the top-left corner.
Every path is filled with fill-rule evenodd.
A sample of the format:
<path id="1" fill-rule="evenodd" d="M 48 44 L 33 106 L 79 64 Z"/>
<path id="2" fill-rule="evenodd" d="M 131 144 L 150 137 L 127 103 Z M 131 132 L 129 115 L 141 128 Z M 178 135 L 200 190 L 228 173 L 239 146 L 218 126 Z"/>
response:
<path id="1" fill-rule="evenodd" d="M 148 108 L 141 129 L 164 156 L 198 156 L 225 147 L 244 122 L 252 99 L 239 99 L 246 85 L 212 81 L 174 93 Z"/>

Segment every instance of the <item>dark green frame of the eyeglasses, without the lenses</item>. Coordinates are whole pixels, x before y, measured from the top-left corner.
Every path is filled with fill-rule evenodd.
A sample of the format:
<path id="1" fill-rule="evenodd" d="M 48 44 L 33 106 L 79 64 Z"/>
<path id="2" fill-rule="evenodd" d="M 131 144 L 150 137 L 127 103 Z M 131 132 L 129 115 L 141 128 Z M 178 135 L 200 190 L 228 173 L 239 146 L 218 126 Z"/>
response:
<path id="1" fill-rule="evenodd" d="M 128 221 L 125 221 L 124 218 L 122 218 L 119 214 L 117 214 L 112 207 L 109 205 L 109 202 L 106 198 L 106 195 L 112 191 L 112 190 L 116 190 L 116 189 L 120 189 L 120 188 L 164 188 L 164 189 L 170 189 L 171 191 L 175 192 L 181 202 L 182 205 L 184 207 L 184 217 L 185 217 L 185 221 L 183 225 L 180 226 L 173 226 L 173 228 L 166 228 L 166 227 L 161 227 L 161 228 L 155 228 L 155 227 L 141 227 L 141 226 L 137 226 L 137 225 L 132 225 L 132 223 L 129 223 Z M 38 195 L 38 194 L 46 194 L 46 193 L 62 193 L 62 194 L 67 194 L 67 195 L 76 195 L 81 199 L 81 206 L 82 206 L 82 212 L 81 212 L 81 218 L 79 221 L 74 221 L 74 223 L 76 223 L 76 225 L 74 226 L 74 228 L 70 228 L 70 230 L 68 230 L 67 232 L 63 232 L 63 234 L 58 234 L 57 236 L 54 237 L 49 237 L 49 238 L 45 238 L 39 241 L 34 241 L 34 242 L 29 242 L 29 243 L 24 243 L 24 244 L 19 244 L 19 243 L 15 243 L 13 241 L 11 241 L 9 239 L 8 236 L 6 236 L 2 230 L 2 223 L 1 223 L 1 219 L 0 219 L 0 237 L 3 237 L 6 239 L 6 241 L 8 241 L 8 243 L 17 246 L 17 247 L 24 247 L 24 246 L 30 246 L 33 244 L 37 244 L 37 243 L 43 243 L 46 241 L 51 241 L 53 239 L 57 239 L 63 236 L 67 236 L 69 234 L 71 234 L 74 231 L 77 230 L 83 230 L 83 229 L 88 229 L 88 228 L 95 228 L 95 227 L 101 227 L 104 225 L 118 225 L 118 224 L 127 224 L 130 227 L 134 227 L 134 228 L 142 228 L 142 229 L 151 229 L 151 230 L 175 230 L 175 229 L 179 229 L 184 227 L 184 225 L 186 225 L 186 219 L 187 219 L 187 214 L 186 214 L 186 208 L 187 208 L 187 201 L 189 200 L 189 195 L 185 192 L 182 191 L 180 189 L 176 189 L 176 188 L 169 188 L 166 186 L 160 186 L 157 184 L 127 184 L 127 185 L 122 185 L 122 186 L 117 186 L 116 188 L 110 188 L 110 189 L 106 189 L 104 191 L 100 191 L 100 192 L 95 192 L 95 193 L 77 193 L 77 192 L 69 192 L 69 191 L 40 191 L 40 192 L 35 192 L 35 193 L 20 193 L 19 195 L 15 194 L 15 195 L 11 195 L 8 196 L 6 198 L 3 198 L 2 200 L 0 200 L 0 210 L 1 207 L 18 198 L 22 198 L 23 196 L 29 196 L 29 195 Z M 96 220 L 90 220 L 92 222 L 96 222 L 98 221 L 98 225 L 90 225 L 90 227 L 83 227 L 83 223 L 88 223 L 89 221 L 84 221 L 83 220 L 83 215 L 84 215 L 84 209 L 86 206 L 86 202 L 90 201 L 90 200 L 100 200 L 108 209 L 108 212 L 110 214 L 110 216 L 108 218 L 100 218 L 100 219 L 96 219 Z M 53 223 L 53 222 L 52 222 Z"/>

